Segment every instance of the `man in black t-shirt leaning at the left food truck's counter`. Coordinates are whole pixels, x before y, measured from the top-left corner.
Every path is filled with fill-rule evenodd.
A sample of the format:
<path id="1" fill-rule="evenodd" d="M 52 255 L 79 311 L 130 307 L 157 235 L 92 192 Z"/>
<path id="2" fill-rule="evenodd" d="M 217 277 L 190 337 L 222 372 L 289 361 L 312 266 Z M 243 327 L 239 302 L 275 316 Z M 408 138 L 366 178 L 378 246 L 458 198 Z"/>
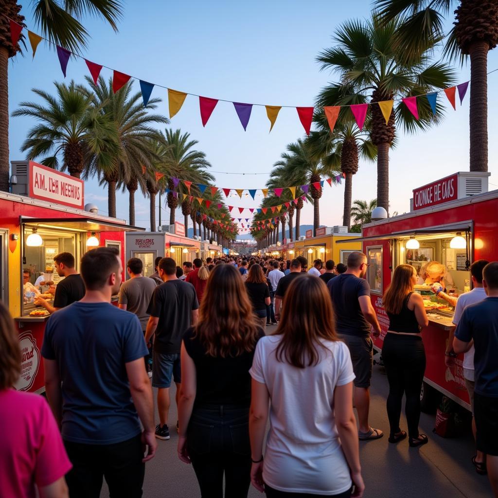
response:
<path id="1" fill-rule="evenodd" d="M 55 288 L 53 306 L 42 297 L 37 297 L 35 304 L 43 306 L 50 314 L 79 301 L 85 295 L 85 284 L 76 271 L 74 256 L 70 252 L 61 252 L 54 257 L 55 270 L 64 277 Z"/>

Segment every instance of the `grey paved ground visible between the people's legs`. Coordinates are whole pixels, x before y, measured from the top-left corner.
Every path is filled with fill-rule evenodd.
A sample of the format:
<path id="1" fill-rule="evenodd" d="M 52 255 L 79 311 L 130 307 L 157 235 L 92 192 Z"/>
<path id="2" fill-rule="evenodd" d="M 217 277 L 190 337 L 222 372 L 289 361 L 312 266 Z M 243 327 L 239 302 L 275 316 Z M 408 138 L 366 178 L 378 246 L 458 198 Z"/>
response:
<path id="1" fill-rule="evenodd" d="M 272 327 L 273 329 L 273 327 Z M 385 399 L 387 378 L 378 365 L 373 367 L 371 423 L 388 431 Z M 174 396 L 174 392 L 173 392 Z M 173 428 L 169 441 L 158 441 L 156 457 L 147 464 L 143 486 L 144 498 L 199 498 L 193 469 L 176 455 L 176 406 L 169 416 Z M 421 432 L 429 435 L 422 448 L 409 448 L 407 440 L 391 445 L 387 437 L 361 442 L 361 462 L 366 484 L 365 498 L 489 498 L 492 496 L 487 477 L 479 476 L 471 463 L 474 441 L 468 434 L 458 439 L 443 439 L 432 433 L 433 415 L 422 414 Z M 401 428 L 406 429 L 403 419 Z M 105 485 L 104 485 L 105 487 Z M 109 496 L 103 489 L 103 498 Z M 249 498 L 261 497 L 254 488 Z"/>

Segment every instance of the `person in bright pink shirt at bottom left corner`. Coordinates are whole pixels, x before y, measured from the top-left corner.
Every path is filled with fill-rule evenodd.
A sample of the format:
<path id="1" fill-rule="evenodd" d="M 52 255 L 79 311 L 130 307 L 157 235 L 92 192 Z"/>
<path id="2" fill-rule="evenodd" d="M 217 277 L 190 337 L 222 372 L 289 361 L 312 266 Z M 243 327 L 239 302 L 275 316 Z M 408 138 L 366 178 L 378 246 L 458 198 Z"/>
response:
<path id="1" fill-rule="evenodd" d="M 45 398 L 16 391 L 21 352 L 14 323 L 0 302 L 0 495 L 67 498 L 64 475 L 72 468 Z"/>

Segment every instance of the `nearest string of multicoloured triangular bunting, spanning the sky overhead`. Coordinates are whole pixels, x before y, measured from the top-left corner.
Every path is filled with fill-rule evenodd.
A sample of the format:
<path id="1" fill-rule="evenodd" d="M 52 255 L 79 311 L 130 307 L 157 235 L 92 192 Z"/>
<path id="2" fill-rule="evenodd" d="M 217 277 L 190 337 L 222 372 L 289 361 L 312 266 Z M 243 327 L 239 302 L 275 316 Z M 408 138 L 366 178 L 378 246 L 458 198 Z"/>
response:
<path id="1" fill-rule="evenodd" d="M 15 46 L 17 45 L 17 42 L 19 41 L 20 34 L 22 30 L 24 29 L 24 26 L 21 26 L 20 24 L 16 23 L 12 19 L 9 19 L 10 21 L 10 37 L 12 39 L 12 44 Z M 26 28 L 27 29 L 27 28 Z M 60 47 L 59 45 L 55 44 L 54 42 L 43 38 L 42 36 L 30 31 L 28 31 L 28 38 L 29 42 L 31 44 L 31 49 L 33 51 L 33 58 L 36 53 L 36 49 L 39 45 L 39 43 L 42 40 L 47 41 L 48 43 L 55 45 L 56 51 L 57 51 L 57 56 L 59 58 L 60 66 L 62 73 L 64 74 L 64 78 L 66 77 L 66 71 L 67 71 L 67 65 L 69 62 L 69 59 L 71 56 L 77 57 L 84 59 L 88 70 L 90 71 L 90 74 L 92 75 L 93 81 L 95 84 L 97 84 L 97 80 L 99 78 L 100 72 L 102 69 L 105 67 L 106 69 L 110 69 L 113 71 L 113 91 L 116 93 L 118 92 L 131 78 L 137 79 L 140 84 L 140 90 L 142 93 L 142 98 L 143 98 L 143 105 L 146 106 L 150 96 L 152 94 L 152 90 L 154 87 L 159 87 L 159 88 L 164 88 L 168 91 L 168 108 L 169 108 L 169 117 L 173 118 L 180 109 L 183 106 L 183 103 L 185 102 L 185 99 L 187 98 L 187 95 L 190 95 L 192 97 L 198 97 L 199 98 L 199 110 L 200 110 L 200 115 L 201 115 L 201 121 L 202 125 L 206 126 L 206 124 L 209 121 L 209 118 L 213 114 L 213 111 L 218 104 L 218 102 L 228 102 L 233 104 L 235 112 L 237 113 L 237 116 L 239 118 L 239 121 L 241 122 L 244 131 L 247 130 L 247 126 L 249 124 L 249 119 L 251 116 L 252 108 L 254 106 L 256 107 L 264 107 L 266 109 L 266 116 L 268 117 L 268 120 L 270 122 L 270 130 L 273 128 L 273 125 L 276 122 L 278 113 L 282 108 L 295 108 L 297 111 L 297 115 L 299 118 L 299 121 L 303 125 L 304 130 L 306 131 L 306 134 L 310 134 L 311 130 L 311 123 L 313 121 L 313 113 L 315 108 L 314 107 L 302 107 L 302 106 L 268 106 L 264 104 L 247 104 L 247 103 L 242 103 L 242 102 L 234 102 L 230 100 L 225 100 L 225 99 L 214 99 L 211 97 L 203 97 L 201 95 L 189 93 L 189 92 L 181 92 L 179 90 L 173 90 L 171 88 L 168 88 L 164 85 L 159 85 L 157 83 L 149 83 L 147 81 L 144 81 L 140 78 L 136 78 L 134 76 L 122 73 L 120 71 L 117 71 L 116 69 L 110 68 L 108 66 L 104 66 L 103 64 L 97 64 L 95 62 L 92 62 L 88 59 L 85 59 L 79 54 L 76 54 L 74 52 L 71 52 L 70 50 L 67 50 L 65 48 Z M 458 89 L 458 96 L 460 98 L 460 105 L 462 105 L 463 99 L 465 97 L 465 94 L 467 93 L 467 89 L 469 86 L 469 81 L 465 81 L 463 83 L 460 83 L 459 85 L 455 85 L 450 88 L 445 88 L 444 93 L 446 94 L 446 97 L 448 98 L 448 101 L 452 105 L 453 109 L 456 110 L 456 104 L 455 104 L 455 96 L 456 96 L 456 91 Z M 418 109 L 417 109 L 417 97 L 425 97 L 429 105 L 432 109 L 432 112 L 434 115 L 436 115 L 436 101 L 437 101 L 437 96 L 438 92 L 430 92 L 427 94 L 422 94 L 418 96 L 412 96 L 412 97 L 405 97 L 400 99 L 401 102 L 408 108 L 410 113 L 415 117 L 415 119 L 418 121 Z M 392 108 L 394 105 L 394 102 L 399 102 L 399 100 L 388 100 L 388 101 L 383 101 L 383 102 L 376 102 L 376 103 L 371 103 L 371 104 L 353 104 L 349 106 L 325 106 L 323 108 L 325 116 L 327 118 L 328 124 L 330 126 L 330 131 L 334 131 L 335 124 L 337 122 L 337 118 L 339 117 L 339 112 L 341 108 L 349 107 L 351 110 L 351 113 L 353 114 L 356 124 L 358 124 L 358 127 L 360 129 L 363 129 L 363 125 L 365 124 L 365 119 L 367 117 L 367 111 L 369 109 L 369 106 L 373 105 L 378 105 L 380 108 L 380 111 L 382 112 L 383 117 L 385 118 L 386 124 L 389 121 L 389 117 L 392 113 Z"/>

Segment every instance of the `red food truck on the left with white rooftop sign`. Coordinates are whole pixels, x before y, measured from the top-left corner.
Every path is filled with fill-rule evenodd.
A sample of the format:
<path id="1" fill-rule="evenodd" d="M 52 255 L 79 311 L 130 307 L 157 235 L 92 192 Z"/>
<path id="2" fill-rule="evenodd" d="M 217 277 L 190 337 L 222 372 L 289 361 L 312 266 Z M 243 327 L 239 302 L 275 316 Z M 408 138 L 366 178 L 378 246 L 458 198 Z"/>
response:
<path id="1" fill-rule="evenodd" d="M 63 251 L 75 256 L 79 270 L 87 250 L 116 247 L 124 266 L 124 233 L 142 229 L 101 216 L 94 206 L 93 212 L 84 210 L 82 180 L 33 161 L 13 161 L 12 173 L 13 192 L 0 192 L 0 299 L 19 332 L 22 365 L 15 388 L 42 392 L 40 350 L 49 315 L 34 304 L 33 285 L 48 280 L 57 285 L 53 258 Z M 29 273 L 27 281 L 23 272 Z M 42 292 L 44 287 L 38 284 L 36 289 Z"/>

